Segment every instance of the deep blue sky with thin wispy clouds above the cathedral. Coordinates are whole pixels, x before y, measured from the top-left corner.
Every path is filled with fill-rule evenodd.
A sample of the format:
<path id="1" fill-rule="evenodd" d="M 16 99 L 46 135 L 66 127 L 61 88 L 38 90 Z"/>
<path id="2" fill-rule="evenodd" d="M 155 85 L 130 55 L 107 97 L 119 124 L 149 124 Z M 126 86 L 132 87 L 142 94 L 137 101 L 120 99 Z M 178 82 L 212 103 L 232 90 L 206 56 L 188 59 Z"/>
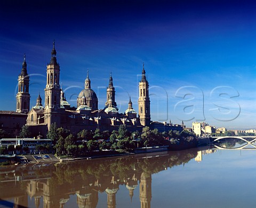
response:
<path id="1" fill-rule="evenodd" d="M 119 112 L 138 112 L 145 63 L 151 120 L 256 128 L 253 1 L 1 1 L 0 110 L 15 110 L 26 53 L 30 107 L 44 104 L 55 39 L 60 81 L 76 106 L 89 69 L 99 109 L 112 72 Z"/>

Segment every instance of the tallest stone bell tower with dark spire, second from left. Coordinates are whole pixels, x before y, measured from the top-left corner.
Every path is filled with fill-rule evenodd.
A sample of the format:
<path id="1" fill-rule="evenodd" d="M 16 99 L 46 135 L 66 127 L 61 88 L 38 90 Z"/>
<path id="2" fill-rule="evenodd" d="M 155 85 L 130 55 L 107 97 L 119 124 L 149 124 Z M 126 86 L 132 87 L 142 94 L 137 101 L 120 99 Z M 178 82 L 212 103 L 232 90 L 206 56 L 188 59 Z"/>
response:
<path id="1" fill-rule="evenodd" d="M 53 41 L 52 57 L 46 68 L 45 91 L 45 124 L 50 128 L 56 122 L 60 126 L 60 65 L 57 63 L 55 42 Z"/>

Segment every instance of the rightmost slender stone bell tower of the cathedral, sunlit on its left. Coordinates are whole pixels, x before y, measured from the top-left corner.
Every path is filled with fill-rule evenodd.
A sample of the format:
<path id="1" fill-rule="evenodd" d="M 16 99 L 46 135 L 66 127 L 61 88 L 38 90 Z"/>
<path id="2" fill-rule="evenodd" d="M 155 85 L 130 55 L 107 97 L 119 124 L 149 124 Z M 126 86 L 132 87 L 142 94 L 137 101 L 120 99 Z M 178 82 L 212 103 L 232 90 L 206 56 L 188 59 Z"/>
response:
<path id="1" fill-rule="evenodd" d="M 148 81 L 146 79 L 146 72 L 144 69 L 143 63 L 143 70 L 142 70 L 142 77 L 139 82 L 139 118 L 140 123 L 142 126 L 149 126 L 150 125 L 150 100 L 148 94 Z"/>

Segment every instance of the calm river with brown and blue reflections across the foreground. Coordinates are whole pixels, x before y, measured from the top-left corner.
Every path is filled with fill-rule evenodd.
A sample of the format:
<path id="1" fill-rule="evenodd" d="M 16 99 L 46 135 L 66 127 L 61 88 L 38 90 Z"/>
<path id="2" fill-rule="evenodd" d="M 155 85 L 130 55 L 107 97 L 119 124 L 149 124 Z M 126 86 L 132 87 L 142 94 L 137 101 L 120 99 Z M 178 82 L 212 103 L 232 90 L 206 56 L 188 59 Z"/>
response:
<path id="1" fill-rule="evenodd" d="M 256 151 L 186 151 L 0 168 L 0 207 L 255 207 Z"/>

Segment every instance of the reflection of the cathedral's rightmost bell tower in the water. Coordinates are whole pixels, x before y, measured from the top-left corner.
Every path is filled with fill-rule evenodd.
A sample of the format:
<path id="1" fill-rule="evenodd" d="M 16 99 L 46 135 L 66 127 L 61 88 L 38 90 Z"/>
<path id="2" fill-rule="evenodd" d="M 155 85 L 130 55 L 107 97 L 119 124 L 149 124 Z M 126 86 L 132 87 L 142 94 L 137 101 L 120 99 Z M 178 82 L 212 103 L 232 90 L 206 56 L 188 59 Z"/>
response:
<path id="1" fill-rule="evenodd" d="M 142 172 L 140 177 L 140 207 L 150 208 L 151 202 L 151 174 L 147 176 L 146 173 Z"/>

